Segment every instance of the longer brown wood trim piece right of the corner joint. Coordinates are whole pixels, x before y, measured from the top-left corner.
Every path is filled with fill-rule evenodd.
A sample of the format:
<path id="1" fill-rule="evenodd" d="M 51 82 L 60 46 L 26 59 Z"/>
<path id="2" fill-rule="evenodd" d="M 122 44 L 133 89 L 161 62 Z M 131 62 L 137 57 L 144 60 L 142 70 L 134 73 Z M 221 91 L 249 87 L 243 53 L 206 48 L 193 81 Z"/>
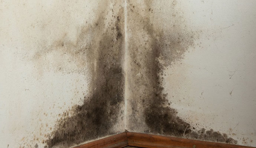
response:
<path id="1" fill-rule="evenodd" d="M 127 132 L 128 145 L 144 148 L 253 148 L 241 145 Z"/>

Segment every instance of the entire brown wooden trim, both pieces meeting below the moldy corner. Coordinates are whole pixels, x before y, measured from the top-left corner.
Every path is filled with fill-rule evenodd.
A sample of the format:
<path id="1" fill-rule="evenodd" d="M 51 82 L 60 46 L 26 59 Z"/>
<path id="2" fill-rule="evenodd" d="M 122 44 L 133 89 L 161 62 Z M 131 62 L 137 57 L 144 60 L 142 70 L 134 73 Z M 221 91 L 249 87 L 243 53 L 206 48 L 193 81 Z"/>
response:
<path id="1" fill-rule="evenodd" d="M 127 146 L 141 148 L 255 148 L 128 131 L 89 142 L 75 148 L 123 148 Z"/>

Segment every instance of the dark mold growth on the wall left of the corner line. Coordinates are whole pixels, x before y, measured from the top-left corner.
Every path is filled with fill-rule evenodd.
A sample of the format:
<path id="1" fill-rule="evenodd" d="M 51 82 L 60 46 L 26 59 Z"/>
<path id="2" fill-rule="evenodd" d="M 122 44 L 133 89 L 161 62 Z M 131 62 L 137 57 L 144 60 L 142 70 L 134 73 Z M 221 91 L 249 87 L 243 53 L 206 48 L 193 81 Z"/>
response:
<path id="1" fill-rule="evenodd" d="M 87 56 L 86 59 L 90 60 L 88 67 L 92 80 L 89 84 L 89 95 L 84 97 L 82 105 L 73 106 L 71 110 L 63 113 L 49 139 L 43 141 L 47 147 L 69 147 L 90 139 L 116 134 L 112 128 L 122 118 L 124 102 L 122 13 L 123 10 L 119 9 L 119 16 L 113 17 L 113 25 L 105 24 L 104 17 L 99 15 L 95 26 L 89 28 L 93 32 L 82 28 L 78 46 L 69 45 L 69 50 L 74 50 L 69 54 L 72 52 L 71 55 L 78 59 Z M 104 32 L 103 27 L 107 28 L 108 32 Z M 93 34 L 91 44 L 81 46 L 84 37 L 89 33 Z M 63 43 L 60 46 L 63 46 Z"/>

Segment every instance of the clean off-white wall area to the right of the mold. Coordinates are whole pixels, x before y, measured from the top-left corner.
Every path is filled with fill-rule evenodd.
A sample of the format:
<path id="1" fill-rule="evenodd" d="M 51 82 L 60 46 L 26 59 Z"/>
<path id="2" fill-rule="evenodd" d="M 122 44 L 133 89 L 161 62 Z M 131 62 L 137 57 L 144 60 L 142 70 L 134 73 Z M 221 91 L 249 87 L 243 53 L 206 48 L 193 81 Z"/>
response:
<path id="1" fill-rule="evenodd" d="M 175 98 L 169 100 L 191 125 L 255 147 L 256 1 L 182 2 L 203 35 L 182 64 L 166 70 L 164 88 Z"/>

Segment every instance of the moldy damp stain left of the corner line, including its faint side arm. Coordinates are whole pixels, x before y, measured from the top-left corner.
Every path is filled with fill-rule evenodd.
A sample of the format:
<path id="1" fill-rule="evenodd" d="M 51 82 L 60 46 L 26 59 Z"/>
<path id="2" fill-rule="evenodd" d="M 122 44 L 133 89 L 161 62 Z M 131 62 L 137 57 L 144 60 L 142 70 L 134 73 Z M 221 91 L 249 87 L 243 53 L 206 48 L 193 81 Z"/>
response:
<path id="1" fill-rule="evenodd" d="M 116 134 L 116 124 L 124 118 L 124 10 L 119 3 L 105 2 L 96 13 L 96 21 L 78 31 L 75 43 L 66 36 L 44 47 L 34 55 L 42 63 L 48 54 L 56 53 L 75 63 L 70 70 L 62 61 L 54 65 L 62 73 L 89 71 L 88 93 L 82 105 L 74 105 L 60 115 L 52 132 L 43 140 L 45 147 L 70 147 L 82 142 Z M 88 76 L 88 75 L 87 75 Z M 121 126 L 121 125 L 118 125 Z"/>

